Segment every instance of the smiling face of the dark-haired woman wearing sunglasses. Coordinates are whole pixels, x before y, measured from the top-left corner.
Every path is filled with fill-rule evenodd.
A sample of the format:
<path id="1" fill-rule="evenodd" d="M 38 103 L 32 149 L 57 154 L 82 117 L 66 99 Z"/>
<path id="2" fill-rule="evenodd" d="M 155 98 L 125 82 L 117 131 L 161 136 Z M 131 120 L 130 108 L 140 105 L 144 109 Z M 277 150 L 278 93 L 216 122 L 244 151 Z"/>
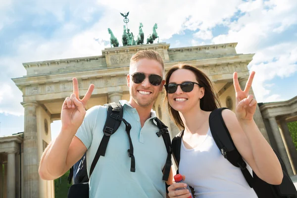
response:
<path id="1" fill-rule="evenodd" d="M 195 74 L 188 69 L 178 69 L 172 73 L 169 78 L 169 86 L 173 84 L 182 84 L 185 82 L 195 82 Z M 191 86 L 191 85 L 190 85 Z M 196 106 L 199 106 L 199 99 L 203 97 L 203 88 L 199 88 L 197 84 L 194 84 L 194 88 L 191 92 L 185 92 L 181 89 L 181 86 L 177 86 L 175 93 L 168 94 L 168 102 L 172 108 L 183 113 L 188 112 L 191 109 L 196 109 Z"/>

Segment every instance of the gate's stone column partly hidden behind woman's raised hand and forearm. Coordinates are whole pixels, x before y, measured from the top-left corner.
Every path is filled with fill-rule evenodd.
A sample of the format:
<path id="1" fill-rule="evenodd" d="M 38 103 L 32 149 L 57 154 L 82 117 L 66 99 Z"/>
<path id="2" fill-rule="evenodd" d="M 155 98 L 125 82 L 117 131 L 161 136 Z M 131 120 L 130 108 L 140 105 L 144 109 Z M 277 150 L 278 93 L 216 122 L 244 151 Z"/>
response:
<path id="1" fill-rule="evenodd" d="M 240 87 L 241 87 L 242 90 L 245 90 L 245 87 L 246 87 L 246 84 L 247 84 L 247 79 L 248 78 L 243 78 L 243 79 L 239 80 L 239 84 L 240 84 Z M 252 91 L 252 88 L 250 88 L 249 94 L 253 95 L 253 97 L 255 99 L 255 95 L 254 95 L 254 93 Z M 259 108 L 258 105 L 256 106 L 256 111 L 255 111 L 255 114 L 253 115 L 253 119 L 254 119 L 257 127 L 259 128 L 261 134 L 264 136 L 266 141 L 268 143 L 270 143 L 269 137 L 268 137 L 268 134 L 267 134 L 267 131 L 266 131 L 266 128 L 265 128 L 265 124 L 263 122 L 262 114 L 261 114 L 261 111 L 260 111 L 260 108 Z"/>

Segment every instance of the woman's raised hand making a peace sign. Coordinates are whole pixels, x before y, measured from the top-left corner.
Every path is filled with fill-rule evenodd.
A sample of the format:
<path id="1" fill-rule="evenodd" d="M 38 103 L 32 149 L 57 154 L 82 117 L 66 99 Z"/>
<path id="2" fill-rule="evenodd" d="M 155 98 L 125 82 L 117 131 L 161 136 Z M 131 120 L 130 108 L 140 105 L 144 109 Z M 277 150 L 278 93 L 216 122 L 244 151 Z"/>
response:
<path id="1" fill-rule="evenodd" d="M 244 91 L 241 90 L 237 73 L 233 73 L 233 85 L 236 92 L 236 117 L 239 121 L 250 121 L 253 119 L 253 114 L 256 111 L 257 101 L 253 95 L 249 95 L 248 92 L 251 88 L 251 83 L 255 72 L 252 71 L 248 77 L 246 88 Z"/>

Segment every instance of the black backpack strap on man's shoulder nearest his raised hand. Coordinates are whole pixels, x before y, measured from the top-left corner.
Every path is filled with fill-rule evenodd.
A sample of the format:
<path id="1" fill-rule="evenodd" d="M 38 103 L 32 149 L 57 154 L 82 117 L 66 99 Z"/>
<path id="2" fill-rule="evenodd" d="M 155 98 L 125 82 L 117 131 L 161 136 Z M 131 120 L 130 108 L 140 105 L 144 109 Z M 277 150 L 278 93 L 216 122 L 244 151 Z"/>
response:
<path id="1" fill-rule="evenodd" d="M 119 128 L 123 118 L 123 107 L 121 104 L 116 104 L 115 102 L 112 102 L 112 103 L 104 104 L 104 106 L 106 106 L 106 110 L 107 110 L 107 117 L 106 117 L 105 125 L 103 127 L 104 135 L 102 137 L 99 148 L 92 162 L 89 178 L 91 178 L 91 175 L 99 160 L 100 155 L 101 156 L 105 155 L 109 138 Z"/>

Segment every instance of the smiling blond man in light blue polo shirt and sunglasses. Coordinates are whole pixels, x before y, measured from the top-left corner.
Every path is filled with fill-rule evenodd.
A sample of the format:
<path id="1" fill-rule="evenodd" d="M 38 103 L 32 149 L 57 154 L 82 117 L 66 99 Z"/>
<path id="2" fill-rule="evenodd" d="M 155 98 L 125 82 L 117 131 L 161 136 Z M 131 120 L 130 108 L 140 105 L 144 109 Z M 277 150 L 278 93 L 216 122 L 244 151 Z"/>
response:
<path id="1" fill-rule="evenodd" d="M 135 172 L 130 171 L 129 140 L 122 123 L 110 137 L 104 157 L 90 178 L 90 197 L 110 198 L 164 198 L 165 183 L 162 170 L 167 151 L 151 111 L 153 102 L 162 91 L 165 81 L 164 62 L 152 50 L 139 51 L 131 58 L 127 85 L 129 101 L 120 100 L 123 118 L 131 124 L 130 132 L 135 156 Z M 94 90 L 91 85 L 83 99 L 79 99 L 78 82 L 73 78 L 73 94 L 66 98 L 61 111 L 61 132 L 44 151 L 39 174 L 53 180 L 63 175 L 87 151 L 87 169 L 95 157 L 103 136 L 106 107 L 94 106 L 87 112 L 85 106 Z M 172 182 L 172 173 L 168 184 Z"/>

